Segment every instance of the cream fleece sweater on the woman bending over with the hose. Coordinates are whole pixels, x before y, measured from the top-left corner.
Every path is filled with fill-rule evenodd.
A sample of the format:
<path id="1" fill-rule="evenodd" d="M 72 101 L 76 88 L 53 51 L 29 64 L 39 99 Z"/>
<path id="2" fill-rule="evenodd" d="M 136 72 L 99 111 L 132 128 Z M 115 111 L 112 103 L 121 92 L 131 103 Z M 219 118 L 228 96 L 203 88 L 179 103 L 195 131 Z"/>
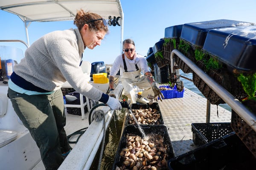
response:
<path id="1" fill-rule="evenodd" d="M 36 40 L 14 71 L 33 85 L 47 91 L 61 88 L 64 82 L 80 94 L 98 101 L 102 91 L 87 83 L 79 66 L 84 43 L 78 29 L 53 31 Z"/>

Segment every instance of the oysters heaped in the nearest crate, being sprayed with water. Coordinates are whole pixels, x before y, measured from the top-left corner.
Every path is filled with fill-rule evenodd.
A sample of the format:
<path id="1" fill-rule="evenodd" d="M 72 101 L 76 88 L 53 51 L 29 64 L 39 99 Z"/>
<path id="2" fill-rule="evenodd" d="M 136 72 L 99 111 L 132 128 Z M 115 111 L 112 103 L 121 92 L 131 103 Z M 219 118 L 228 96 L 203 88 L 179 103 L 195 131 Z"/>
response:
<path id="1" fill-rule="evenodd" d="M 142 139 L 140 136 L 127 134 L 126 147 L 120 151 L 121 166 L 116 170 L 166 170 L 167 145 L 163 137 L 153 134 Z"/>

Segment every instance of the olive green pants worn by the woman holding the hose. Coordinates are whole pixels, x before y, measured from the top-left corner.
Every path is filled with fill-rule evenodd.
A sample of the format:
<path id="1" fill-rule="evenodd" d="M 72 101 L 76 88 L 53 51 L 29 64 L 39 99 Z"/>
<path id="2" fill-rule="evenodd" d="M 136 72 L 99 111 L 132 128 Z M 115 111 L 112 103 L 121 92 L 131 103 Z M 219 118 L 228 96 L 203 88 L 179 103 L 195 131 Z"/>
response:
<path id="1" fill-rule="evenodd" d="M 8 96 L 17 116 L 38 145 L 46 170 L 58 169 L 61 154 L 72 149 L 64 130 L 66 116 L 61 89 L 49 95 L 26 95 L 9 88 Z"/>

